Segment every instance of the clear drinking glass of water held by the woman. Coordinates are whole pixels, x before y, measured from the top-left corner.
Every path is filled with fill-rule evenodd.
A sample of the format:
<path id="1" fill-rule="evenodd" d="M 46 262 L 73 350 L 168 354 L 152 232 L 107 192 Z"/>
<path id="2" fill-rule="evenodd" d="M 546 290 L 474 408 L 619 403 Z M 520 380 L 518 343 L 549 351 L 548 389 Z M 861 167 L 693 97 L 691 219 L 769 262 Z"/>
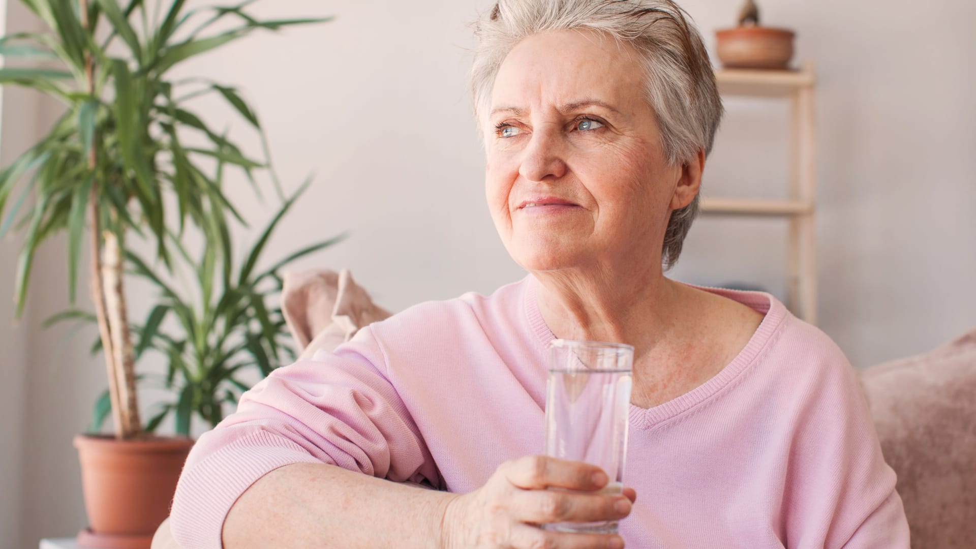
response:
<path id="1" fill-rule="evenodd" d="M 621 493 L 627 456 L 633 347 L 599 341 L 549 343 L 546 455 L 603 469 Z M 555 488 L 552 488 L 555 489 Z M 616 532 L 617 521 L 554 523 L 559 531 Z"/>

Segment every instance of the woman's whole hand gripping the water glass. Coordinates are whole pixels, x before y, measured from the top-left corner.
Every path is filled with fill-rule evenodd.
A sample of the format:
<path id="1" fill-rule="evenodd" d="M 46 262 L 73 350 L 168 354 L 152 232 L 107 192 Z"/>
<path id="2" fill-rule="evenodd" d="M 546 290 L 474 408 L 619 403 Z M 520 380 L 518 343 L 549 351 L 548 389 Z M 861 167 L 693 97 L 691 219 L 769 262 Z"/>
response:
<path id="1" fill-rule="evenodd" d="M 617 534 L 549 531 L 547 523 L 615 521 L 630 514 L 636 497 L 599 490 L 598 467 L 541 455 L 499 466 L 485 486 L 448 503 L 441 528 L 444 549 L 607 549 L 624 547 Z M 548 490 L 557 487 L 574 490 Z"/>

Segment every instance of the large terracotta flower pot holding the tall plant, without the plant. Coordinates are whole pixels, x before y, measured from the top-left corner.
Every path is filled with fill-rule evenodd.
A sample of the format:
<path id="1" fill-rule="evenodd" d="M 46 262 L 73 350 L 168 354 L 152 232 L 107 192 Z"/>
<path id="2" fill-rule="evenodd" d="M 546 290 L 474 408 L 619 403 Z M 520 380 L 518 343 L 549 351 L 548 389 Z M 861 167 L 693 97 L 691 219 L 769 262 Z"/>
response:
<path id="1" fill-rule="evenodd" d="M 84 547 L 148 549 L 156 527 L 169 515 L 191 439 L 74 438 L 90 528 L 78 534 Z"/>

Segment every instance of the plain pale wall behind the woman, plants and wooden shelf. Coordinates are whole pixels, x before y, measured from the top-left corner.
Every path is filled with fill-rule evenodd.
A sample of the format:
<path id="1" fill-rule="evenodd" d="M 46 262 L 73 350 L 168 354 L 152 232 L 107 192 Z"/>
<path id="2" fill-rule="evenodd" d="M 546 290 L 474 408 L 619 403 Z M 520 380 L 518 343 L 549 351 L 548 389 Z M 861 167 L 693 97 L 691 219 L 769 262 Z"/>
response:
<path id="1" fill-rule="evenodd" d="M 738 3 L 683 5 L 711 44 L 712 29 L 734 21 Z M 489 4 L 258 3 L 262 16 L 337 20 L 256 36 L 187 64 L 187 73 L 242 88 L 264 120 L 286 187 L 315 174 L 273 241 L 277 252 L 349 231 L 345 243 L 302 266 L 349 267 L 394 310 L 468 290 L 489 292 L 521 275 L 483 204 L 483 158 L 468 114 L 466 24 Z M 769 24 L 798 30 L 797 59 L 819 67 L 822 327 L 855 364 L 868 365 L 925 351 L 976 325 L 976 159 L 969 154 L 976 147 L 976 112 L 968 97 L 976 89 L 969 64 L 976 6 L 967 0 L 933 0 L 924 9 L 885 0 L 760 4 Z M 5 145 L 37 131 L 30 116 L 12 117 L 12 101 L 8 96 L 5 104 Z M 216 102 L 199 107 L 219 128 L 232 118 Z M 775 195 L 786 173 L 777 160 L 785 154 L 786 107 L 738 101 L 728 109 L 707 190 Z M 50 120 L 53 112 L 42 115 Z M 232 131 L 257 146 L 240 124 Z M 242 212 L 260 226 L 270 211 L 267 200 L 254 198 L 243 181 L 235 185 Z M 778 222 L 703 219 L 674 274 L 782 291 L 783 233 Z M 12 277 L 14 248 L 0 242 L 0 281 Z M 61 306 L 63 266 L 61 243 L 39 258 L 32 325 Z M 148 302 L 139 292 L 131 299 L 137 306 Z M 12 546 L 72 535 L 84 525 L 70 439 L 84 428 L 104 386 L 103 366 L 87 357 L 90 334 L 53 345 L 60 333 L 0 333 L 4 349 L 16 353 L 20 343 L 26 354 L 11 359 L 13 384 L 0 386 L 0 405 L 24 414 L 20 426 L 3 427 L 23 456 L 20 470 L 16 451 L 0 461 L 0 480 L 22 478 L 24 486 L 21 542 Z M 19 433 L 26 434 L 20 443 Z M 0 526 L 18 524 L 14 507 L 3 505 Z"/>

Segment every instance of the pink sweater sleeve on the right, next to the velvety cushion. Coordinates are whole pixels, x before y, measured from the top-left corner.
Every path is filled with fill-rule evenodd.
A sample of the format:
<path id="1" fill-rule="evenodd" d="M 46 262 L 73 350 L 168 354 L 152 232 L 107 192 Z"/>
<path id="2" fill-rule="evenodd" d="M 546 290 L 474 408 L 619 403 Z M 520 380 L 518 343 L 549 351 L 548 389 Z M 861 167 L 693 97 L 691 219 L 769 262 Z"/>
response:
<path id="1" fill-rule="evenodd" d="M 867 399 L 834 343 L 821 348 L 823 367 L 811 368 L 818 373 L 806 379 L 810 391 L 798 407 L 786 545 L 908 549 L 895 472 L 881 454 Z"/>

